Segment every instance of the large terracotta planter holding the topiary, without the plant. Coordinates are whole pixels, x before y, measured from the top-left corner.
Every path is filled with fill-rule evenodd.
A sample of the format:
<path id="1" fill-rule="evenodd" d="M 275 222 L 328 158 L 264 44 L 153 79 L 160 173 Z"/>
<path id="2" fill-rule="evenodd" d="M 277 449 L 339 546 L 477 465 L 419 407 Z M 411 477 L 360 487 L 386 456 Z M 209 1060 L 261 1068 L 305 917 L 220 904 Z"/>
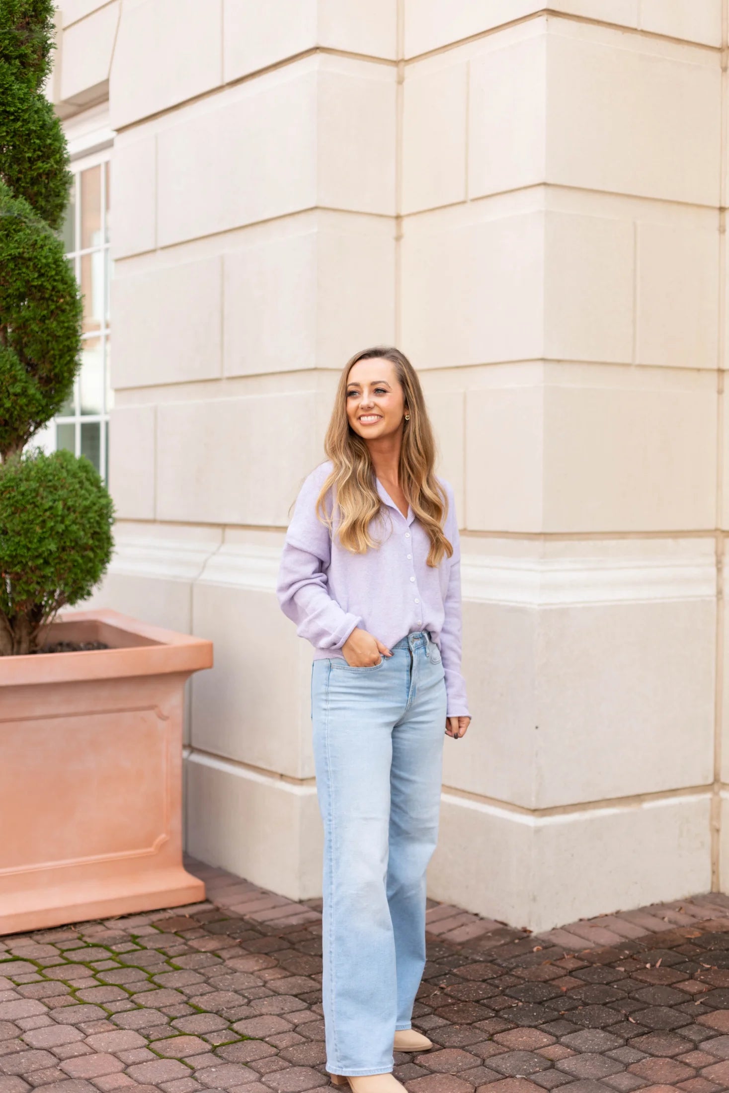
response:
<path id="1" fill-rule="evenodd" d="M 0 657 L 0 933 L 204 898 L 183 868 L 184 685 L 212 644 L 116 611 L 89 653 Z"/>

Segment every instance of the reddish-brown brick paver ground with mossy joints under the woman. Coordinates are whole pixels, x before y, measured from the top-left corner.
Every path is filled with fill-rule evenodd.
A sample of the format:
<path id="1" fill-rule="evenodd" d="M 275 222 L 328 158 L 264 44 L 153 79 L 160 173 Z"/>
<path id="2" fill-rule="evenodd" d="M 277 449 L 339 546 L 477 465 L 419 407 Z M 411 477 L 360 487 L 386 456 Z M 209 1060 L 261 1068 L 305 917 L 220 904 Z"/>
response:
<path id="1" fill-rule="evenodd" d="M 0 938 L 0 1093 L 328 1084 L 316 902 L 200 872 L 212 902 Z M 541 938 L 428 921 L 413 1024 L 436 1046 L 396 1056 L 412 1093 L 729 1090 L 726 897 Z"/>

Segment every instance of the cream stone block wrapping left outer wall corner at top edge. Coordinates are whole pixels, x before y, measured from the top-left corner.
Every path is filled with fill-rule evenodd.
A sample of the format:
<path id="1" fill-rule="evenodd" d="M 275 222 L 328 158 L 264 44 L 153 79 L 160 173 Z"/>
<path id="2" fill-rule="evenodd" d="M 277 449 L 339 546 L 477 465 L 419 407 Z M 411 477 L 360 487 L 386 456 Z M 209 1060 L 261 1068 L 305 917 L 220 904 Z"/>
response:
<path id="1" fill-rule="evenodd" d="M 225 80 L 237 80 L 315 46 L 395 59 L 391 0 L 224 0 Z"/>

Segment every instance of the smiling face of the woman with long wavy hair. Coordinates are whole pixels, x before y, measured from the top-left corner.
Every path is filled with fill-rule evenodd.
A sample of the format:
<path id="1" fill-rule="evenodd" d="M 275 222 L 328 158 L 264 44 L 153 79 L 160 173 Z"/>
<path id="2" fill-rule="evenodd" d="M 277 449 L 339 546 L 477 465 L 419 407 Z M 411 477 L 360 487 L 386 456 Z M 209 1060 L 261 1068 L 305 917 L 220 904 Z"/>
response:
<path id="1" fill-rule="evenodd" d="M 346 416 L 365 440 L 379 439 L 402 428 L 407 412 L 404 391 L 391 361 L 372 357 L 350 368 Z"/>

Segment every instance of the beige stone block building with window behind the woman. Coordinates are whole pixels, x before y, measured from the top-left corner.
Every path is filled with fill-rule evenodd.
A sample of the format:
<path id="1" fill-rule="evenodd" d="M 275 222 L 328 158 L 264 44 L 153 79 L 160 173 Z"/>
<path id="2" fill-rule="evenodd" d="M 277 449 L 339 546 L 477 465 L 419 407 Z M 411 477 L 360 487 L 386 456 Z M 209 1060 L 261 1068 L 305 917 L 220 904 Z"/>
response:
<path id="1" fill-rule="evenodd" d="M 87 344 L 46 443 L 108 459 L 94 602 L 215 643 L 199 858 L 319 891 L 274 581 L 339 371 L 390 342 L 462 528 L 432 895 L 540 929 L 729 890 L 728 7 L 63 0 Z"/>

